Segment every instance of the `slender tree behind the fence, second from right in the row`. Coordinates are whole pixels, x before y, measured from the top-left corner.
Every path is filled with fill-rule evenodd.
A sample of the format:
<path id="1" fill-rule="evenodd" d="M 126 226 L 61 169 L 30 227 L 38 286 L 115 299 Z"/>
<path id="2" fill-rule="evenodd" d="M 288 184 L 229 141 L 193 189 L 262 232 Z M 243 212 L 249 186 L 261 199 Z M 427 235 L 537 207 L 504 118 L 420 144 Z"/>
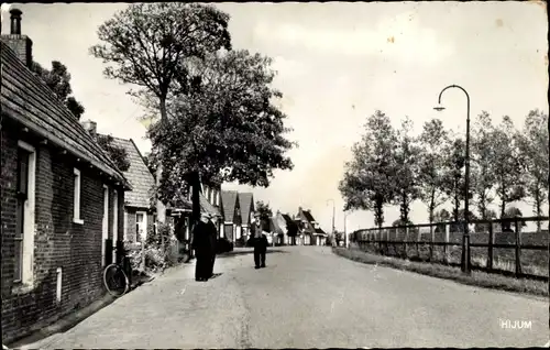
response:
<path id="1" fill-rule="evenodd" d="M 506 212 L 506 205 L 525 198 L 522 160 L 518 150 L 519 138 L 509 117 L 503 117 L 501 124 L 493 132 L 495 154 L 494 172 L 496 192 L 501 201 L 501 218 Z"/>

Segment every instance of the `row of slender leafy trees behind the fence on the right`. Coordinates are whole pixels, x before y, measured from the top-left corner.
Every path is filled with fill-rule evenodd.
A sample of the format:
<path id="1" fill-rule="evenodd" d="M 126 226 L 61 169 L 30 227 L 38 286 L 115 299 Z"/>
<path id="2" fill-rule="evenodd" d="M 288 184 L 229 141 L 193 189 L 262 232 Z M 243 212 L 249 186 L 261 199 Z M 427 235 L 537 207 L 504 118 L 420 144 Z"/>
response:
<path id="1" fill-rule="evenodd" d="M 422 132 L 413 135 L 409 118 L 395 130 L 382 111 L 369 117 L 364 128 L 339 185 L 345 209 L 374 211 L 377 227 L 384 223 L 384 207 L 388 205 L 400 209 L 394 225 L 411 225 L 409 212 L 415 200 L 426 204 L 430 223 L 464 218 L 462 135 L 447 130 L 439 119 L 426 122 Z M 470 210 L 470 218 L 520 215 L 509 205 L 524 199 L 530 200 L 536 216 L 542 216 L 549 181 L 548 114 L 532 110 L 522 129 L 517 130 L 509 117 L 494 125 L 491 116 L 483 111 L 472 129 L 469 196 L 476 212 Z M 446 201 L 451 203 L 451 212 L 438 211 Z M 490 209 L 495 201 L 499 212 Z"/>

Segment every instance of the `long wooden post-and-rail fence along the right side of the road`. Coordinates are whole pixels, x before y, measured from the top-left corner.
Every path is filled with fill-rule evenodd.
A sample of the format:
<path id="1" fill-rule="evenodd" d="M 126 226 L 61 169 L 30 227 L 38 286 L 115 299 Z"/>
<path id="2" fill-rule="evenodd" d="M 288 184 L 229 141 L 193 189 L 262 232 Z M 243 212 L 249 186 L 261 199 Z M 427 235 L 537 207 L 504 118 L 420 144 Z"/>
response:
<path id="1" fill-rule="evenodd" d="M 525 229 L 535 222 L 535 231 Z M 464 222 L 457 221 L 363 229 L 351 240 L 377 254 L 448 265 L 466 259 L 472 270 L 548 281 L 548 217 L 472 220 L 466 243 Z"/>

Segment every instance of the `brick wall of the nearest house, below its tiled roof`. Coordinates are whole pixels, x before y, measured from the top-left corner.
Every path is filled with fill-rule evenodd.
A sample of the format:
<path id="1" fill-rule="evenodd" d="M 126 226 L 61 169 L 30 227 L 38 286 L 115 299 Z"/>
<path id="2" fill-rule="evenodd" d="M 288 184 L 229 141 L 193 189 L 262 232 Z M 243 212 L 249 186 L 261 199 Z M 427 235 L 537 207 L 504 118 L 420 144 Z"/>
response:
<path id="1" fill-rule="evenodd" d="M 9 342 L 81 308 L 103 294 L 101 269 L 103 181 L 59 150 L 40 144 L 26 133 L 20 139 L 36 149 L 34 287 L 18 294 L 13 287 L 15 174 L 18 131 L 2 125 L 2 338 Z M 80 218 L 73 222 L 74 174 L 81 174 Z M 109 238 L 112 238 L 113 186 L 110 185 Z M 119 193 L 118 231 L 122 238 L 123 203 Z M 57 267 L 63 270 L 62 300 L 56 302 Z"/>

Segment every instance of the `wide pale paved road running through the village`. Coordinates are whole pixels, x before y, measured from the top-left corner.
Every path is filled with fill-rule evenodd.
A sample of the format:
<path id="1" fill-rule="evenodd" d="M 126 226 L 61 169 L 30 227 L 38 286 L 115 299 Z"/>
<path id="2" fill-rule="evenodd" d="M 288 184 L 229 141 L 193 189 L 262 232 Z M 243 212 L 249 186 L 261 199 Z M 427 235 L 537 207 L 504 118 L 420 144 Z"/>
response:
<path id="1" fill-rule="evenodd" d="M 116 300 L 47 348 L 529 347 L 549 340 L 548 300 L 355 263 L 323 247 L 271 248 L 194 266 Z M 502 320 L 531 321 L 504 329 Z"/>

